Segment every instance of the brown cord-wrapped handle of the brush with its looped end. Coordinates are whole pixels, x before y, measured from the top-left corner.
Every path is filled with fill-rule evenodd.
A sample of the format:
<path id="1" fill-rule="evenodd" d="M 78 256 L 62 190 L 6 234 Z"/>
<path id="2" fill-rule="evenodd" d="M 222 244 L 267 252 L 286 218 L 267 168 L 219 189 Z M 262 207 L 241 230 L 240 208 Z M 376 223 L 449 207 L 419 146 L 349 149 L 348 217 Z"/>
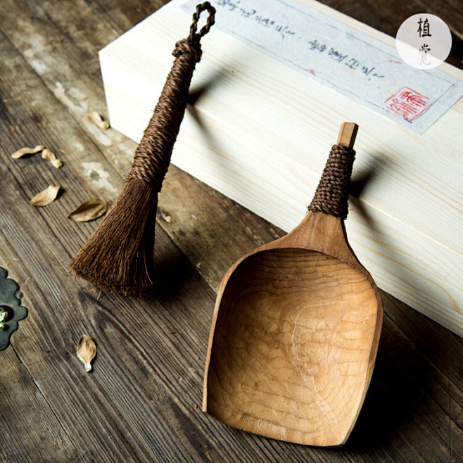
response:
<path id="1" fill-rule="evenodd" d="M 196 32 L 203 11 L 208 11 L 209 16 L 205 26 Z M 184 117 L 191 77 L 196 63 L 201 59 L 200 40 L 209 32 L 214 21 L 215 8 L 208 1 L 196 6 L 189 37 L 177 42 L 172 52 L 175 61 L 167 75 L 153 116 L 135 151 L 127 182 L 139 179 L 160 191 Z"/>

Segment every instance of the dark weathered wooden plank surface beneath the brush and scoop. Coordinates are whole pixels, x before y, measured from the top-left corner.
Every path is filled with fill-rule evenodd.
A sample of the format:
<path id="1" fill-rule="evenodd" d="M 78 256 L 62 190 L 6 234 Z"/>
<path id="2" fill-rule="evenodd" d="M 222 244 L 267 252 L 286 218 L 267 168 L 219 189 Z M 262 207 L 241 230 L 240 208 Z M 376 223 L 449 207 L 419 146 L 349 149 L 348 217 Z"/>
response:
<path id="1" fill-rule="evenodd" d="M 82 115 L 106 115 L 98 51 L 156 11 L 156 0 L 2 0 L 0 10 L 0 265 L 29 309 L 0 351 L 0 459 L 5 462 L 463 461 L 463 339 L 383 293 L 372 385 L 343 448 L 320 449 L 229 428 L 201 412 L 215 293 L 229 265 L 281 236 L 264 220 L 171 166 L 156 229 L 157 297 L 125 298 L 76 281 L 66 267 L 97 222 L 66 215 L 113 201 L 134 143 Z M 429 11 L 452 27 L 461 66 L 459 1 L 326 2 L 395 34 Z M 347 4 L 347 5 L 345 5 Z M 39 156 L 44 144 L 63 167 Z M 61 184 L 45 208 L 28 201 Z M 75 356 L 98 345 L 94 371 Z"/>

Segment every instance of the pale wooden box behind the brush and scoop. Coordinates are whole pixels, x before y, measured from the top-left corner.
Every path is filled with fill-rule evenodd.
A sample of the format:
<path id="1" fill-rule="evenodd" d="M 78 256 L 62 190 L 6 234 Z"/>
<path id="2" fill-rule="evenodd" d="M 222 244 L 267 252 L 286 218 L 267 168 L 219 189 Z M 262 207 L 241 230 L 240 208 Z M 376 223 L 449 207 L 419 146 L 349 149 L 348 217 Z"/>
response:
<path id="1" fill-rule="evenodd" d="M 392 37 L 315 1 L 394 46 Z M 100 52 L 110 124 L 139 141 L 175 42 L 191 14 L 173 0 Z M 289 231 L 305 215 L 341 122 L 360 125 L 353 181 L 367 178 L 346 221 L 379 287 L 463 334 L 463 99 L 423 135 L 212 28 L 172 163 Z M 463 72 L 443 64 L 459 79 Z M 179 199 L 181 201 L 181 199 Z M 387 307 L 386 307 L 387 309 Z"/>

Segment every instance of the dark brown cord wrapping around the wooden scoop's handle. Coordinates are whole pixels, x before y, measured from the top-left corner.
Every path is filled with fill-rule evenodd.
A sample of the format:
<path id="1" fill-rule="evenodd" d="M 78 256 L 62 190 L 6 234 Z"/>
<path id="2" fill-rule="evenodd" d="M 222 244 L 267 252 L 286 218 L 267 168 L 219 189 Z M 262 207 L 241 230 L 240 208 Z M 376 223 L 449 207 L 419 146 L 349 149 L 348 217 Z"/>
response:
<path id="1" fill-rule="evenodd" d="M 355 151 L 352 148 L 343 145 L 332 146 L 309 210 L 343 219 L 347 217 L 348 186 L 354 158 Z"/>

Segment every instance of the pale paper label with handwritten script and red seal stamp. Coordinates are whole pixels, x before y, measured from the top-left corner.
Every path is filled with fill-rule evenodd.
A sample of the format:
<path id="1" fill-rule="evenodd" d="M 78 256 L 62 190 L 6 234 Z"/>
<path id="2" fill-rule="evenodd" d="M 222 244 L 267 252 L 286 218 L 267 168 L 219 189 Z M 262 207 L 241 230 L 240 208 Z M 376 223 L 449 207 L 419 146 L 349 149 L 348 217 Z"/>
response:
<path id="1" fill-rule="evenodd" d="M 197 0 L 184 11 L 195 11 Z M 407 65 L 384 44 L 296 0 L 218 0 L 214 27 L 422 134 L 463 96 L 463 82 Z"/>

